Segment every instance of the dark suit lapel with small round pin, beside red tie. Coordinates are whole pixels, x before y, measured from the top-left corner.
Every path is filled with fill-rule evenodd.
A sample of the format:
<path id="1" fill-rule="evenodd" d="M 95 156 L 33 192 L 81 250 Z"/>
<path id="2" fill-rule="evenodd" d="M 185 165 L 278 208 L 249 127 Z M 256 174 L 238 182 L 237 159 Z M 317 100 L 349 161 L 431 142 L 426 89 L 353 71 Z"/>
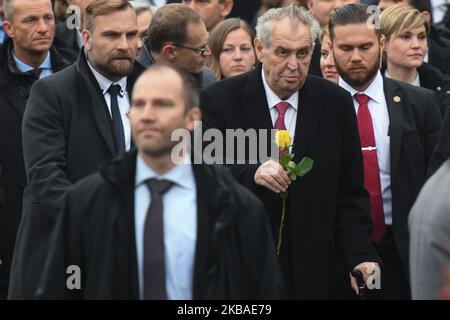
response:
<path id="1" fill-rule="evenodd" d="M 394 184 L 400 158 L 403 136 L 403 103 L 404 96 L 394 81 L 383 78 L 384 94 L 389 112 L 391 184 Z"/>

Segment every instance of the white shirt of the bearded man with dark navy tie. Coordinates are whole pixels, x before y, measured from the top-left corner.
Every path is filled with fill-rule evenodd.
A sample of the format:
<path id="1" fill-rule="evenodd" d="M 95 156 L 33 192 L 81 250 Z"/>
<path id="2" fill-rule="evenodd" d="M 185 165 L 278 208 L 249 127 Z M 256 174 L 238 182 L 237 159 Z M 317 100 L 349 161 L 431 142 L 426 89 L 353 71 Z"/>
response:
<path id="1" fill-rule="evenodd" d="M 117 96 L 117 102 L 119 103 L 120 116 L 122 118 L 123 130 L 125 134 L 125 149 L 128 151 L 131 147 L 131 126 L 130 119 L 127 117 L 128 111 L 130 111 L 130 97 L 128 95 L 127 90 L 127 77 L 123 77 L 117 82 L 112 82 L 108 78 L 104 77 L 100 73 L 98 73 L 94 68 L 92 68 L 91 64 L 88 62 L 89 68 L 91 68 L 92 73 L 94 74 L 95 79 L 100 85 L 100 89 L 102 90 L 102 94 L 105 97 L 106 104 L 108 105 L 109 114 L 112 118 L 111 112 L 111 95 L 108 92 L 109 87 L 112 84 L 118 84 L 120 86 L 120 92 Z"/>

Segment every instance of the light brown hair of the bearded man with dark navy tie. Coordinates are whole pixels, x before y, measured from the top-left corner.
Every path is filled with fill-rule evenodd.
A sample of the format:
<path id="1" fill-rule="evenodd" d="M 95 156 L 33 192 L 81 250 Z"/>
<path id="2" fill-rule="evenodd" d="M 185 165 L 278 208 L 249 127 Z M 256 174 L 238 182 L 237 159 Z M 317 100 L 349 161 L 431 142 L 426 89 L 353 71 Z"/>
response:
<path id="1" fill-rule="evenodd" d="M 84 15 L 84 28 L 91 31 L 94 28 L 94 18 L 117 11 L 133 9 L 128 0 L 91 0 Z"/>

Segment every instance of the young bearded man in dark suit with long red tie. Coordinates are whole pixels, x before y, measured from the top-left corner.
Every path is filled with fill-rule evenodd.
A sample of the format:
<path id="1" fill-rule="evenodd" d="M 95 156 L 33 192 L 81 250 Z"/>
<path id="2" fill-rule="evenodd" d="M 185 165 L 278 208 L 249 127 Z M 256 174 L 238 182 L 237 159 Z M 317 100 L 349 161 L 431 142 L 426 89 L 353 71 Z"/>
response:
<path id="1" fill-rule="evenodd" d="M 353 96 L 370 194 L 372 242 L 383 259 L 378 299 L 408 299 L 408 213 L 425 182 L 441 126 L 432 92 L 383 78 L 384 38 L 363 5 L 336 9 L 329 24 L 339 85 Z"/>

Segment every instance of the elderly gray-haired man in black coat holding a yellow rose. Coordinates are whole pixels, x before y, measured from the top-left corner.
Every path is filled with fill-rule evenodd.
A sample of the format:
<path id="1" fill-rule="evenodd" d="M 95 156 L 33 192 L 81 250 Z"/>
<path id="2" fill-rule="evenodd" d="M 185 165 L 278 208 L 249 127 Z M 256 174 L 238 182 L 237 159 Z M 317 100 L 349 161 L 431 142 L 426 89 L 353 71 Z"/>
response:
<path id="1" fill-rule="evenodd" d="M 275 238 L 279 193 L 289 190 L 279 255 L 284 297 L 327 299 L 337 250 L 345 257 L 348 282 L 352 269 L 368 279 L 379 262 L 370 243 L 356 117 L 345 90 L 308 76 L 319 25 L 305 8 L 271 9 L 258 22 L 255 47 L 261 65 L 202 92 L 205 126 L 224 134 L 227 129 L 286 129 L 293 137 L 294 161 L 303 156 L 314 160 L 312 171 L 293 183 L 274 160 L 239 159 L 245 164 L 231 168 L 266 205 Z M 245 141 L 247 155 L 253 145 L 270 144 L 270 135 L 260 136 L 252 146 Z"/>

